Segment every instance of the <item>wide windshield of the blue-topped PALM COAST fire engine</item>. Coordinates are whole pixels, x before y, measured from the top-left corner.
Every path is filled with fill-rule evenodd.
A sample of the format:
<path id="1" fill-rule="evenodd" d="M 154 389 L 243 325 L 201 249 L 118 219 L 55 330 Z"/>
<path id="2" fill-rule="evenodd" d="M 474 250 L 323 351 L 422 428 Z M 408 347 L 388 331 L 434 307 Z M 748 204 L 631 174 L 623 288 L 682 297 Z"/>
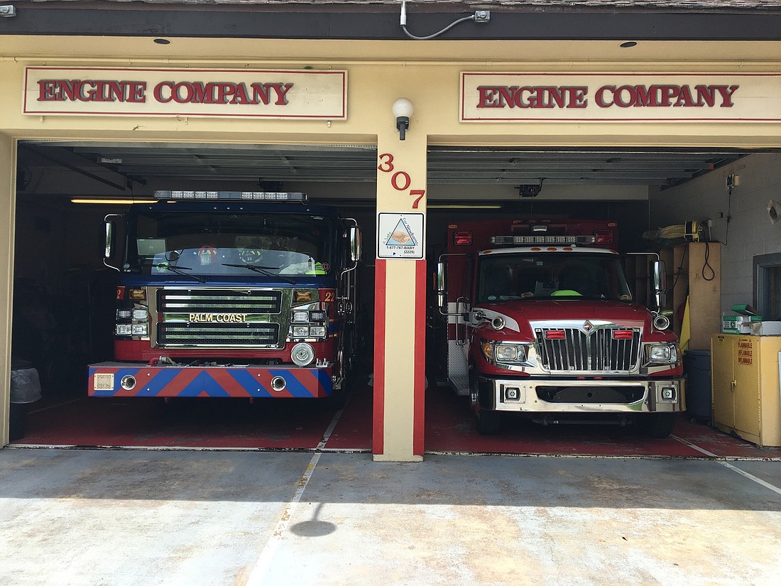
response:
<path id="1" fill-rule="evenodd" d="M 334 228 L 333 218 L 309 213 L 147 211 L 137 216 L 128 263 L 152 275 L 327 275 Z"/>

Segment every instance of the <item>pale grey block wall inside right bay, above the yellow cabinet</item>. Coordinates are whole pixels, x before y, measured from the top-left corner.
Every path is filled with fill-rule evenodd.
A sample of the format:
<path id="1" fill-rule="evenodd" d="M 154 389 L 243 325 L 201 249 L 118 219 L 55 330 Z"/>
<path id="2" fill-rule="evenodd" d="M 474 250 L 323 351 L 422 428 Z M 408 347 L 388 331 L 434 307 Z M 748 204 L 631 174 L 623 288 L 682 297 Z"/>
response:
<path id="1" fill-rule="evenodd" d="M 730 174 L 739 177 L 731 201 L 726 187 Z M 722 242 L 722 312 L 735 303 L 753 302 L 754 256 L 781 252 L 781 222 L 772 225 L 768 216 L 771 198 L 781 202 L 777 153 L 750 155 L 650 195 L 651 228 L 713 220 L 711 240 Z"/>

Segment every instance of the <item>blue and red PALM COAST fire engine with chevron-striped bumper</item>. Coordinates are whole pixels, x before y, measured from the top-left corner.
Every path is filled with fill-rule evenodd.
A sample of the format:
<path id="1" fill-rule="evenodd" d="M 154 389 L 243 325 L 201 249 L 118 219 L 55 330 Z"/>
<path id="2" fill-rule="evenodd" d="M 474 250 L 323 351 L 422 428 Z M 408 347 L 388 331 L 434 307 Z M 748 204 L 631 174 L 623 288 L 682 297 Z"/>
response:
<path id="1" fill-rule="evenodd" d="M 95 397 L 325 398 L 355 356 L 360 232 L 305 194 L 158 191 L 107 216 L 114 361 Z"/>

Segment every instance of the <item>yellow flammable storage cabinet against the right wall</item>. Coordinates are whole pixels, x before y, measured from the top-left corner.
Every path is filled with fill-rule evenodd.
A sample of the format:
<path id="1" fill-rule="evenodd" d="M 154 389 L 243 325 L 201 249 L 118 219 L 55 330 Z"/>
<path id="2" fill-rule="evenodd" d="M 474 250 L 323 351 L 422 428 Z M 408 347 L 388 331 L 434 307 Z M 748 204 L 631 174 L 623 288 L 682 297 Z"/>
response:
<path id="1" fill-rule="evenodd" d="M 713 425 L 760 446 L 781 446 L 781 336 L 711 336 Z"/>

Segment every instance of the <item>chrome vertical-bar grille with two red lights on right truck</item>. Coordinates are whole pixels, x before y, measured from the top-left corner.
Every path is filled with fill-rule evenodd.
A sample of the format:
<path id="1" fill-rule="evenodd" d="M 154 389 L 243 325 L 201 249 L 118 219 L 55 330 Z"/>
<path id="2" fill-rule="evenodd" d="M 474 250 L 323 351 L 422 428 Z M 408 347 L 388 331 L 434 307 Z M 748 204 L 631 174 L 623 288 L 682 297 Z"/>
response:
<path id="1" fill-rule="evenodd" d="M 548 338 L 547 332 L 556 332 L 558 338 Z M 614 332 L 621 332 L 618 339 Z M 534 333 L 537 356 L 545 370 L 629 373 L 640 360 L 637 328 L 598 328 L 588 334 L 574 327 L 537 328 Z"/>

